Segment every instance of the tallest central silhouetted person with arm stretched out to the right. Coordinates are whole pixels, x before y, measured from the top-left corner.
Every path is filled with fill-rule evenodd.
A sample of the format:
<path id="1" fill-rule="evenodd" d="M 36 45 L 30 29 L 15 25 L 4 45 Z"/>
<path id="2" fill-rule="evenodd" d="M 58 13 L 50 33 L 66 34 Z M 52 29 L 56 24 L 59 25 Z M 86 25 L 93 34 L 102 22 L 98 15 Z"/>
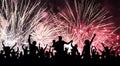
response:
<path id="1" fill-rule="evenodd" d="M 64 44 L 70 44 L 73 41 L 71 40 L 70 42 L 65 42 L 62 40 L 62 36 L 58 36 L 58 41 L 53 41 L 54 49 L 56 51 L 54 59 L 56 60 L 57 63 L 61 62 L 64 63 L 64 57 L 65 57 L 65 52 L 64 52 Z"/>

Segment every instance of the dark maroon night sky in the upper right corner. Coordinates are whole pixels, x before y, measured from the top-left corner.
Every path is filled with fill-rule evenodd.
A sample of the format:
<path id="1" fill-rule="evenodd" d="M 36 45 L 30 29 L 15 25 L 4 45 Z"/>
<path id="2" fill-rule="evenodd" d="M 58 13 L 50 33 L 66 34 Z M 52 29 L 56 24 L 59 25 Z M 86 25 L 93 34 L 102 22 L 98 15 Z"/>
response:
<path id="1" fill-rule="evenodd" d="M 120 26 L 120 0 L 104 0 L 104 5 L 112 13 L 115 25 Z M 120 29 L 117 33 L 120 34 Z"/>

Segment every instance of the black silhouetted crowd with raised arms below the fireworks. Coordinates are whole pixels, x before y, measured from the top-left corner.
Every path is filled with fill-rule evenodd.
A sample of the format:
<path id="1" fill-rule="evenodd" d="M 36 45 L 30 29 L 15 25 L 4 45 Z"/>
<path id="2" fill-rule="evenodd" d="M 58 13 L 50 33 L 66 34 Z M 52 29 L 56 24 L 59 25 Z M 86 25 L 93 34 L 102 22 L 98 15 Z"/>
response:
<path id="1" fill-rule="evenodd" d="M 3 49 L 0 51 L 0 64 L 119 64 L 120 56 L 116 52 L 118 48 L 108 47 L 100 43 L 104 50 L 91 46 L 96 34 L 91 40 L 84 41 L 82 53 L 78 51 L 78 44 L 73 45 L 73 40 L 65 42 L 62 36 L 58 36 L 58 41 L 53 40 L 52 46 L 48 44 L 43 48 L 37 42 L 31 42 L 31 35 L 28 37 L 28 46 L 22 45 L 22 50 L 14 47 L 5 46 L 2 41 Z M 64 48 L 64 44 L 70 44 L 72 49 Z M 48 50 L 46 50 L 48 49 Z"/>

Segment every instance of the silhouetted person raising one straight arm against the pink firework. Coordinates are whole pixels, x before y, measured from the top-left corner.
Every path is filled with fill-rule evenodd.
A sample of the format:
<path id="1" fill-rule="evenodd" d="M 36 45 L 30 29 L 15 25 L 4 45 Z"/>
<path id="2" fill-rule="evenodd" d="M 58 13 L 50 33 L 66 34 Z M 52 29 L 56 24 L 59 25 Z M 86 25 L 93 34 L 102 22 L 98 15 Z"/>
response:
<path id="1" fill-rule="evenodd" d="M 96 36 L 96 34 L 94 34 L 91 41 L 85 40 L 85 42 L 84 42 L 85 45 L 84 45 L 83 51 L 82 51 L 82 55 L 83 55 L 84 59 L 90 59 L 90 46 L 91 46 L 95 36 Z"/>

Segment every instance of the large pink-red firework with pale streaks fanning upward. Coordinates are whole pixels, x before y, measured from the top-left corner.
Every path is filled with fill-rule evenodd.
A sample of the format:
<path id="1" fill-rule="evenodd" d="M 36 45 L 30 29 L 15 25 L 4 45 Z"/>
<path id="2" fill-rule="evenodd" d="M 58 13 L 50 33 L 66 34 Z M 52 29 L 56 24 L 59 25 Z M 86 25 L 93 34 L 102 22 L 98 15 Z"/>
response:
<path id="1" fill-rule="evenodd" d="M 101 43 L 106 46 L 118 46 L 115 43 L 114 32 L 119 29 L 109 22 L 112 16 L 100 3 L 95 0 L 65 0 L 65 8 L 58 14 L 58 19 L 64 22 L 66 34 L 62 35 L 65 40 L 73 40 L 73 44 L 78 44 L 80 52 L 83 49 L 84 41 L 91 39 L 93 34 L 97 34 L 92 43 L 98 49 L 103 50 Z M 72 4 L 72 6 L 70 5 Z"/>

